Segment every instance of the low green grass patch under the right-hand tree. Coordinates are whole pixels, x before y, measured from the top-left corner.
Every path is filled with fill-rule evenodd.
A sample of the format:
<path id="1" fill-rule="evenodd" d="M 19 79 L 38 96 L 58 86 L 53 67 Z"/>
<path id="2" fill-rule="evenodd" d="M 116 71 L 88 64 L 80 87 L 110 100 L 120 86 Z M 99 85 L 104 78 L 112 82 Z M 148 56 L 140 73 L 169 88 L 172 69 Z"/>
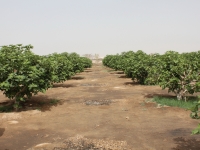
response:
<path id="1" fill-rule="evenodd" d="M 166 97 L 159 97 L 156 96 L 152 100 L 153 102 L 156 102 L 157 104 L 161 105 L 167 105 L 172 107 L 180 107 L 180 108 L 191 108 L 194 106 L 195 102 L 198 102 L 199 99 L 197 97 L 189 98 L 186 102 L 184 100 L 177 100 L 176 97 L 174 98 L 166 98 Z"/>

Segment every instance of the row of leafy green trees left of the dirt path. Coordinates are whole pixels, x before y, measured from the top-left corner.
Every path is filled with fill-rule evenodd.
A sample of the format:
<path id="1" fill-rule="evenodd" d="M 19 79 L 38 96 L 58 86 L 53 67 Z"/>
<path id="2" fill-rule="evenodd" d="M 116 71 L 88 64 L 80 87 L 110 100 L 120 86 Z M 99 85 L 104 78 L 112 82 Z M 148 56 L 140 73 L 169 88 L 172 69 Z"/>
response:
<path id="1" fill-rule="evenodd" d="M 92 61 L 76 53 L 35 55 L 33 46 L 9 45 L 0 48 L 0 90 L 14 99 L 14 107 L 54 83 L 64 82 L 92 66 Z"/>

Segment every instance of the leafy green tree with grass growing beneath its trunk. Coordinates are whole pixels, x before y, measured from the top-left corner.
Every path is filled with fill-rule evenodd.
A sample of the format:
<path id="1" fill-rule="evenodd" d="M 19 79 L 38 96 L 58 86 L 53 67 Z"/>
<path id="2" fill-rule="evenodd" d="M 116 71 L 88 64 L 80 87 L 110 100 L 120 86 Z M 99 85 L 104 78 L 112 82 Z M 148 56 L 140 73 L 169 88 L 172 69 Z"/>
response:
<path id="1" fill-rule="evenodd" d="M 183 53 L 168 51 L 156 57 L 148 69 L 147 83 L 156 82 L 162 89 L 174 92 L 177 99 L 187 99 L 187 94 L 200 91 L 199 52 Z"/>

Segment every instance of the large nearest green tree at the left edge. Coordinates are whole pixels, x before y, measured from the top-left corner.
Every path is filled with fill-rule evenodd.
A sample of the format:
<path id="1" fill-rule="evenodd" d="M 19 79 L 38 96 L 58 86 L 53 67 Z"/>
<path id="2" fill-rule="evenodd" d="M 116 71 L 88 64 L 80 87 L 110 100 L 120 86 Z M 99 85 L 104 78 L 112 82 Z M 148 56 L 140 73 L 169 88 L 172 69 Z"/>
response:
<path id="1" fill-rule="evenodd" d="M 31 52 L 32 48 L 31 45 L 18 44 L 0 49 L 0 90 L 14 99 L 15 109 L 33 94 L 51 87 L 50 74 L 46 76 L 47 66 L 40 56 Z"/>

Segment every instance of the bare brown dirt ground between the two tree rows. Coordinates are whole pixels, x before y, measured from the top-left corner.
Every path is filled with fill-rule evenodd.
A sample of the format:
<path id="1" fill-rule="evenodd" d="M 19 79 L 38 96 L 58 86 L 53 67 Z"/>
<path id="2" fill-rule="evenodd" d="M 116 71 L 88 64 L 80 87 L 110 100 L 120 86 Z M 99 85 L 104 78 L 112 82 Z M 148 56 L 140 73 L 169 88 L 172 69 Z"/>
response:
<path id="1" fill-rule="evenodd" d="M 154 95 L 169 94 L 94 64 L 34 96 L 23 111 L 0 113 L 0 150 L 200 150 L 200 136 L 190 135 L 198 120 L 146 101 Z M 60 103 L 45 105 L 55 99 Z M 6 101 L 0 93 L 0 105 Z"/>

